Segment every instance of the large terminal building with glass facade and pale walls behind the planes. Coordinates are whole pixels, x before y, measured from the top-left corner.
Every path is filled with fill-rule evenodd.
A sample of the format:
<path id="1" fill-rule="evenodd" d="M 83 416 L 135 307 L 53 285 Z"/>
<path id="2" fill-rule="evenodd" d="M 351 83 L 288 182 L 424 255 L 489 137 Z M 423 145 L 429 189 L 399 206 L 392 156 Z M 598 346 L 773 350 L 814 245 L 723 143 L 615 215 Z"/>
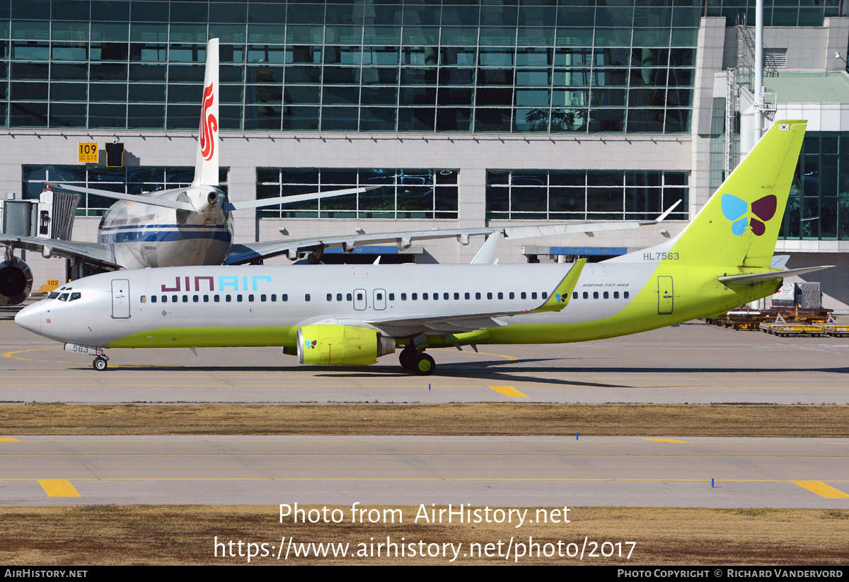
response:
<path id="1" fill-rule="evenodd" d="M 680 232 L 751 147 L 759 108 L 808 120 L 777 252 L 789 268 L 836 265 L 808 280 L 846 309 L 847 14 L 842 0 L 765 0 L 758 104 L 755 0 L 0 0 L 0 192 L 188 184 L 217 37 L 231 200 L 383 186 L 234 213 L 236 242 L 585 221 L 504 239 L 497 256 L 601 260 Z M 93 142 L 98 162 L 81 163 Z M 678 201 L 660 225 L 593 232 Z M 96 240 L 109 205 L 84 194 L 73 238 Z M 359 259 L 468 262 L 481 243 Z M 65 260 L 26 261 L 36 287 L 65 277 Z"/>

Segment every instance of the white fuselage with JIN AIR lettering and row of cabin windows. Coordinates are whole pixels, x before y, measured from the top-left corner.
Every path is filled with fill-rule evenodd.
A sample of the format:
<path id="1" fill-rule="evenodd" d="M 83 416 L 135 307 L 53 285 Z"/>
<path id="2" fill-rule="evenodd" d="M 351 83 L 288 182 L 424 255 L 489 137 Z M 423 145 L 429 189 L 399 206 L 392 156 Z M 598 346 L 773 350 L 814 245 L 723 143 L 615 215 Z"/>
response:
<path id="1" fill-rule="evenodd" d="M 653 262 L 588 265 L 562 311 L 505 316 L 492 326 L 582 323 L 613 316 L 633 301 L 656 266 Z M 237 338 L 227 330 L 276 328 L 286 335 L 290 332 L 282 330 L 294 333 L 296 327 L 324 322 L 364 322 L 383 329 L 389 325 L 396 338 L 419 333 L 444 336 L 446 330 L 436 324 L 430 324 L 429 332 L 418 324 L 393 320 L 528 311 L 545 301 L 570 268 L 559 264 L 328 265 L 120 271 L 68 283 L 54 292 L 53 299 L 25 308 L 15 321 L 48 338 L 101 347 L 131 336 L 140 339 L 132 347 L 145 347 L 148 332 L 147 337 L 156 338 L 149 347 L 163 347 L 171 344 L 160 344 L 159 332 L 154 330 L 189 333 L 200 329 L 209 331 L 194 341 L 196 345 L 287 345 L 292 343 L 288 336 L 252 333 Z M 71 299 L 72 294 L 78 294 L 77 298 Z M 675 321 L 670 314 L 654 327 Z M 222 330 L 220 337 L 215 330 Z M 193 344 L 178 341 L 180 333 L 174 333 L 177 343 L 173 345 Z M 632 332 L 622 328 L 621 333 Z"/>

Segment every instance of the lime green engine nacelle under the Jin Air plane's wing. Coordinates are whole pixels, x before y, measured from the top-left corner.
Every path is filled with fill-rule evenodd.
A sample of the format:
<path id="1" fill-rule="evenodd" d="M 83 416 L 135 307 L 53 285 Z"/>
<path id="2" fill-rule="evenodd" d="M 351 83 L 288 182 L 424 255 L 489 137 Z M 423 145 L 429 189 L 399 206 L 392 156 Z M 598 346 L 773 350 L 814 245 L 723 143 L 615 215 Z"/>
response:
<path id="1" fill-rule="evenodd" d="M 369 327 L 319 323 L 298 329 L 298 362 L 309 366 L 368 366 L 394 351 L 394 339 Z"/>

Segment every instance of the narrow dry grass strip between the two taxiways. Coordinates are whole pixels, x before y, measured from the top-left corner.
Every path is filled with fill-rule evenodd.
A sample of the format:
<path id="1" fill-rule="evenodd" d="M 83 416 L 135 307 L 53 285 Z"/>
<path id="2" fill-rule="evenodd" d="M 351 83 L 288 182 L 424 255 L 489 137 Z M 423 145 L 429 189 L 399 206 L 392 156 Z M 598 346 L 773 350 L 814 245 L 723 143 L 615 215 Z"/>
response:
<path id="1" fill-rule="evenodd" d="M 0 406 L 3 434 L 847 437 L 849 406 Z"/>

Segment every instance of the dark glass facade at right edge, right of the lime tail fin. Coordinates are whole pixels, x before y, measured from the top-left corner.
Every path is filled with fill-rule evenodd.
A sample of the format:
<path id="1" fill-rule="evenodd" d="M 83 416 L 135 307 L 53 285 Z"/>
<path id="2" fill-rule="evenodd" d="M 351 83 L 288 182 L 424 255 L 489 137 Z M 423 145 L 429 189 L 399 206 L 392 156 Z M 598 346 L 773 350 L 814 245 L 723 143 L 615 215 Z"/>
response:
<path id="1" fill-rule="evenodd" d="M 779 238 L 849 240 L 849 132 L 807 132 Z"/>

